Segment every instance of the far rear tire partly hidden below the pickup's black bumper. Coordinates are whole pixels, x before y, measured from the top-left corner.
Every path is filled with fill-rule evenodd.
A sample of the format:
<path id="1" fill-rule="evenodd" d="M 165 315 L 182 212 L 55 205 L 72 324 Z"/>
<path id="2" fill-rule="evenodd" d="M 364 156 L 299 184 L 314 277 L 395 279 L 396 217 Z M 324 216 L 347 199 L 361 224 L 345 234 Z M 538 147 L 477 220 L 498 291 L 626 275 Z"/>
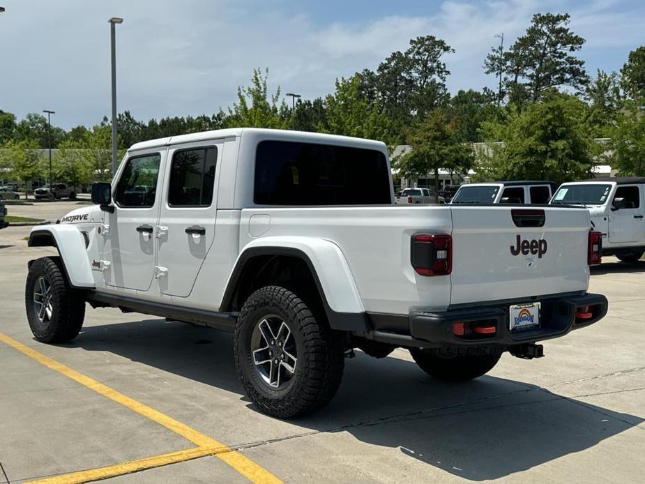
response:
<path id="1" fill-rule="evenodd" d="M 411 349 L 413 360 L 432 378 L 443 381 L 466 381 L 485 375 L 499 361 L 501 353 L 464 348 L 450 353 Z"/>

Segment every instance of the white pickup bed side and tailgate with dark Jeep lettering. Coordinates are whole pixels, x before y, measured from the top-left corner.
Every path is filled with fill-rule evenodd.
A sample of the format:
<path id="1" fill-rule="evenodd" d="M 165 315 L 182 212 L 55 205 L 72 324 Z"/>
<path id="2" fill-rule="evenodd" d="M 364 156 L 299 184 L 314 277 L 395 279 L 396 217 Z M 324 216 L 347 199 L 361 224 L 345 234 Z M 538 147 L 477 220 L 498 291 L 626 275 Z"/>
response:
<path id="1" fill-rule="evenodd" d="M 241 211 L 239 250 L 255 236 L 321 237 L 334 241 L 349 265 L 367 312 L 409 314 L 483 301 L 584 292 L 589 213 L 540 207 L 541 227 L 517 227 L 526 206 L 365 206 L 266 208 Z M 413 234 L 453 237 L 451 275 L 419 275 L 410 263 Z M 255 235 L 255 236 L 254 236 Z M 511 248 L 517 245 L 519 253 Z M 528 252 L 522 252 L 527 241 Z M 531 252 L 531 242 L 536 248 Z M 544 252 L 538 251 L 545 241 Z M 542 243 L 542 246 L 544 243 Z M 538 253 L 540 252 L 540 253 Z"/>

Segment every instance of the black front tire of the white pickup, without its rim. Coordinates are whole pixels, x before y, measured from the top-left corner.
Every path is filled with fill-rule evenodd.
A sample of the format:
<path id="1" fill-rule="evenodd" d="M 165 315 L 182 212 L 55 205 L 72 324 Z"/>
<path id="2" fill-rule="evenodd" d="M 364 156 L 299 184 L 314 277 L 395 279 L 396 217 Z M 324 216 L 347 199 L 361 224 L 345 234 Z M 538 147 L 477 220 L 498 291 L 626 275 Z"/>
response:
<path id="1" fill-rule="evenodd" d="M 52 291 L 52 316 L 40 322 L 34 307 L 36 282 L 44 277 Z M 42 257 L 33 261 L 27 274 L 24 303 L 29 327 L 36 340 L 45 343 L 64 343 L 73 340 L 83 326 L 84 294 L 70 287 L 59 257 Z"/>

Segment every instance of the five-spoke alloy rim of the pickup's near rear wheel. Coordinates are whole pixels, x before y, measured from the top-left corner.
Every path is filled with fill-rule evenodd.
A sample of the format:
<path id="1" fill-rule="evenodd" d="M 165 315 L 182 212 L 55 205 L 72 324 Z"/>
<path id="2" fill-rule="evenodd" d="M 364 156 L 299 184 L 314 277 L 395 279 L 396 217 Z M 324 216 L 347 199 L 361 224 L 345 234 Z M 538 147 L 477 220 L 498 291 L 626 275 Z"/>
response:
<path id="1" fill-rule="evenodd" d="M 287 386 L 296 374 L 296 340 L 287 322 L 277 315 L 264 316 L 251 336 L 253 365 L 265 384 L 274 389 Z"/>

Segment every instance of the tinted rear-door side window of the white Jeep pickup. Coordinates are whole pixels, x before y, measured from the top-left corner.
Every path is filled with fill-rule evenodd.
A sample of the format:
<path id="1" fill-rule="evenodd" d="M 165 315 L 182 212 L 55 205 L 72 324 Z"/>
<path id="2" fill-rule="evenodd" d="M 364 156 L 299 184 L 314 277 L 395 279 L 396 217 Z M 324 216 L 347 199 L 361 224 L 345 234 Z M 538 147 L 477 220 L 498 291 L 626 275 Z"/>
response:
<path id="1" fill-rule="evenodd" d="M 169 206 L 210 206 L 217 160 L 215 147 L 176 151 L 170 167 Z"/>

